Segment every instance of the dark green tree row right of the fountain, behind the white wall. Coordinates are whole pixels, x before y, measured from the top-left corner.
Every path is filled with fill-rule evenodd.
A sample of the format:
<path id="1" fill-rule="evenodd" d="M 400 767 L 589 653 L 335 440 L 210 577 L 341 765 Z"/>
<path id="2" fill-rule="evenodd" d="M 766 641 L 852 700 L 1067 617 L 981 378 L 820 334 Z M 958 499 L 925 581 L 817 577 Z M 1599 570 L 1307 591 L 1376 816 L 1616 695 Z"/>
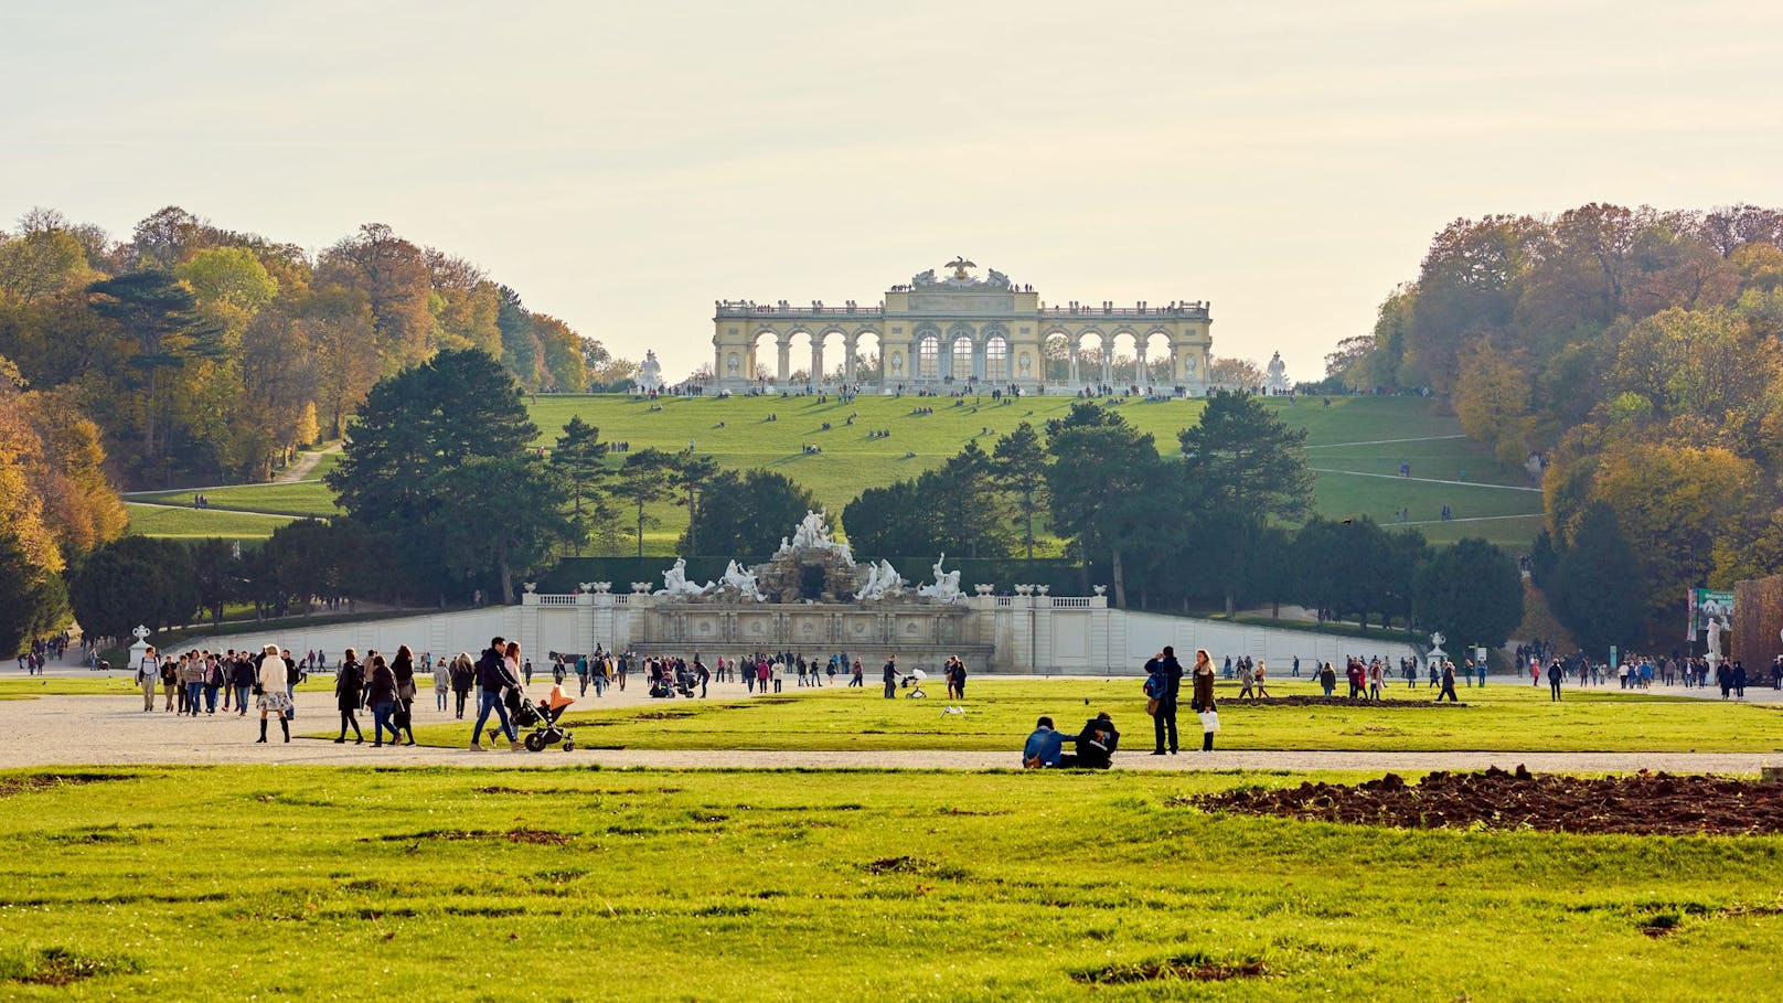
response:
<path id="1" fill-rule="evenodd" d="M 870 487 L 842 512 L 856 553 L 1032 557 L 1045 521 L 1066 553 L 1105 562 L 1116 607 L 1282 603 L 1321 621 L 1439 626 L 1496 646 L 1523 619 L 1516 562 L 1467 539 L 1434 550 L 1416 530 L 1309 518 L 1305 430 L 1259 398 L 1216 393 L 1163 455 L 1118 412 L 1080 402 L 1045 434 L 1029 423 L 940 468 Z"/>

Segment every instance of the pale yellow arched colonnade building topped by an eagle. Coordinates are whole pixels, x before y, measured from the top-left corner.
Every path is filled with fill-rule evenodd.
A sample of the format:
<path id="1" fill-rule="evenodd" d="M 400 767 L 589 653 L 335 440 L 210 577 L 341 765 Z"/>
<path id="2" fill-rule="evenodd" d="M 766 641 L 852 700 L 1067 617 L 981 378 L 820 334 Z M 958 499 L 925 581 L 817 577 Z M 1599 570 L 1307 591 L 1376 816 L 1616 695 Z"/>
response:
<path id="1" fill-rule="evenodd" d="M 719 300 L 715 389 L 1207 389 L 1207 302 L 1047 305 L 997 269 L 977 278 L 963 257 L 947 268 L 893 286 L 879 305 Z"/>

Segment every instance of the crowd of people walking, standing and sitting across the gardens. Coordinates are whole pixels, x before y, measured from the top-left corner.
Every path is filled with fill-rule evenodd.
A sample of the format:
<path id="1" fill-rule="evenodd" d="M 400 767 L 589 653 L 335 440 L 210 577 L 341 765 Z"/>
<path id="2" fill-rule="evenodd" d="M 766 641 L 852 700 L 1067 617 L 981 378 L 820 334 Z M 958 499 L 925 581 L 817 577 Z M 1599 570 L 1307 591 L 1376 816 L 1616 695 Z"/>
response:
<path id="1" fill-rule="evenodd" d="M 68 634 L 36 641 L 29 653 L 20 655 L 20 667 L 27 673 L 41 673 L 46 659 L 62 659 L 70 646 L 84 642 Z M 1747 685 L 1769 682 L 1774 689 L 1783 689 L 1783 655 L 1778 655 L 1767 680 L 1749 678 L 1746 666 L 1738 659 L 1710 660 L 1706 657 L 1649 657 L 1630 655 L 1617 664 L 1596 662 L 1583 655 L 1560 657 L 1551 644 L 1533 642 L 1519 646 L 1519 666 L 1526 667 L 1530 685 L 1549 685 L 1551 700 L 1562 700 L 1564 685 L 1610 685 L 1619 689 L 1651 689 L 1653 685 L 1683 685 L 1721 689 L 1722 700 L 1740 700 Z M 1526 660 L 1521 660 L 1526 659 Z M 610 687 L 626 689 L 633 671 L 640 671 L 651 698 L 706 698 L 710 685 L 740 684 L 745 692 L 783 692 L 788 678 L 799 687 L 834 687 L 838 676 L 847 678 L 845 687 L 865 687 L 865 666 L 859 657 L 847 651 L 833 655 L 808 657 L 799 651 L 752 651 L 736 657 L 717 657 L 708 667 L 701 657 L 692 660 L 670 655 L 638 655 L 637 651 L 604 651 L 599 646 L 590 655 L 549 653 L 551 696 L 542 707 L 560 710 L 572 703 L 567 685 L 576 685 L 581 696 L 588 689 L 601 698 Z M 1394 667 L 1398 669 L 1394 673 Z M 526 687 L 533 684 L 535 667 L 524 657 L 521 644 L 514 641 L 492 639 L 490 646 L 472 659 L 467 651 L 435 659 L 423 653 L 419 659 L 407 644 L 399 644 L 392 655 L 367 650 L 364 657 L 353 648 L 342 651 L 341 659 L 330 666 L 328 655 L 317 650 L 301 657 L 291 650 L 266 646 L 262 650 L 189 650 L 184 653 L 160 653 L 148 648 L 139 664 L 134 666 L 134 680 L 143 692 L 143 712 L 175 714 L 180 717 L 216 717 L 234 714 L 246 717 L 250 710 L 259 716 L 259 737 L 255 742 L 269 741 L 269 726 L 278 721 L 278 730 L 285 742 L 291 741 L 291 721 L 296 719 L 298 685 L 310 678 L 310 673 L 332 671 L 335 709 L 339 712 L 339 732 L 335 742 L 366 742 L 360 714 L 369 714 L 373 726 L 373 748 L 414 746 L 415 701 L 419 687 L 433 684 L 435 712 L 451 714 L 464 719 L 465 710 L 474 709 L 476 721 L 471 734 L 471 748 L 483 751 L 483 732 L 489 730 L 492 741 L 506 739 L 510 750 L 522 748 L 515 717 L 519 705 L 526 700 Z M 1269 669 L 1261 659 L 1227 657 L 1223 675 L 1237 682 L 1236 700 L 1269 698 Z M 1293 659 L 1293 675 L 1302 676 L 1302 659 Z M 1316 660 L 1312 678 L 1327 698 L 1337 698 L 1337 687 L 1346 685 L 1346 698 L 1352 701 L 1380 701 L 1394 676 L 1409 689 L 1423 684 L 1439 689 L 1435 700 L 1457 701 L 1455 685 L 1464 680 L 1467 687 L 1487 684 L 1487 664 L 1483 660 L 1462 659 L 1400 659 L 1394 666 L 1387 657 L 1348 657 L 1341 673 L 1328 660 Z M 572 680 L 574 676 L 574 680 Z M 949 657 L 941 666 L 941 676 L 950 701 L 966 696 L 966 664 L 959 657 Z M 922 696 L 920 680 L 924 673 L 904 675 L 897 657 L 892 655 L 883 669 L 884 696 L 895 698 L 899 687 L 913 687 L 909 696 Z M 1166 646 L 1145 662 L 1143 692 L 1146 714 L 1154 725 L 1152 755 L 1177 755 L 1179 742 L 1179 703 L 1184 678 L 1189 680 L 1189 709 L 1195 723 L 1202 726 L 1202 750 L 1212 751 L 1214 737 L 1220 732 L 1220 716 L 1214 698 L 1214 680 L 1218 678 L 1212 659 L 1205 650 L 1196 650 L 1191 667 L 1184 667 L 1173 648 Z M 1516 678 L 1516 676 L 1514 676 Z M 349 739 L 351 734 L 351 739 Z M 535 735 L 537 737 L 537 735 Z M 1031 767 L 1107 767 L 1118 748 L 1120 732 L 1107 712 L 1089 717 L 1077 734 L 1059 732 L 1052 717 L 1041 717 L 1036 730 L 1023 742 L 1022 762 Z M 1075 751 L 1064 751 L 1066 744 L 1075 744 Z"/>

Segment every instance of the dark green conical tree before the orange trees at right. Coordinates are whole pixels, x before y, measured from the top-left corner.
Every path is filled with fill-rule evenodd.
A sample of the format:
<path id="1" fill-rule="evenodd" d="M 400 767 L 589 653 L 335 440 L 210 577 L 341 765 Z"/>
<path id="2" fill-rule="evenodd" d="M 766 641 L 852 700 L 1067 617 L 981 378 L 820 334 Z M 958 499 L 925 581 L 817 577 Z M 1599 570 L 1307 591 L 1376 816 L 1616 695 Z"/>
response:
<path id="1" fill-rule="evenodd" d="M 1592 502 L 1580 512 L 1573 541 L 1555 569 L 1555 616 L 1594 659 L 1610 644 L 1624 651 L 1642 637 L 1646 587 L 1640 560 L 1623 537 L 1615 510 Z"/>

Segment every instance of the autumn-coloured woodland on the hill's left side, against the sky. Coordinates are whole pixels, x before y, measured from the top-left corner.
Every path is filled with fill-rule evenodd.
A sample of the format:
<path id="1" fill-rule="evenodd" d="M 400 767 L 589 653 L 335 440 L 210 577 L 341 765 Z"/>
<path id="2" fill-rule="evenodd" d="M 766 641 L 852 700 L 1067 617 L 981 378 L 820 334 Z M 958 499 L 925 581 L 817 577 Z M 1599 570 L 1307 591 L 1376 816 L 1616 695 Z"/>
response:
<path id="1" fill-rule="evenodd" d="M 633 366 L 462 257 L 367 223 L 319 253 L 166 207 L 127 239 L 27 212 L 0 232 L 0 357 L 93 419 L 127 485 L 266 480 L 382 377 L 476 348 L 528 391 Z"/>

